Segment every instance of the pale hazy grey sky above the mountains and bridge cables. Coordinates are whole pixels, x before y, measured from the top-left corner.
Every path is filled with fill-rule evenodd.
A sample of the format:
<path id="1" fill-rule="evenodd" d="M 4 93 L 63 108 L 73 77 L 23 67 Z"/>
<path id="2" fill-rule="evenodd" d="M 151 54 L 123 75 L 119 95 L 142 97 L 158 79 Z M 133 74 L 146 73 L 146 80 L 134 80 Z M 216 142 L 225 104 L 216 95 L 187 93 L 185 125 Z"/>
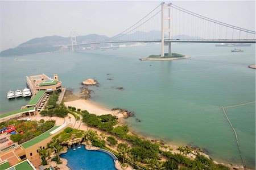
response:
<path id="1" fill-rule="evenodd" d="M 0 1 L 1 51 L 32 38 L 60 35 L 113 36 L 161 1 Z M 165 1 L 170 2 L 170 1 Z M 254 1 L 171 1 L 197 14 L 255 30 Z"/>

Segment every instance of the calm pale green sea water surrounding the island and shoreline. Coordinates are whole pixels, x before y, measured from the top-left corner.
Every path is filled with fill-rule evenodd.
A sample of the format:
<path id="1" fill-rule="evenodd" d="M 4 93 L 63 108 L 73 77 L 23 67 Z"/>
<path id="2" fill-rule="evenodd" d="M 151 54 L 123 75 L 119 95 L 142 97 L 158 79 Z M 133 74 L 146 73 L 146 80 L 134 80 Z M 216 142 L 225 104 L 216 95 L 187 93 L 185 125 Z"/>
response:
<path id="1" fill-rule="evenodd" d="M 131 130 L 204 148 L 214 160 L 241 165 L 234 132 L 220 107 L 255 101 L 255 70 L 247 67 L 255 63 L 255 46 L 243 47 L 244 52 L 231 49 L 173 44 L 173 52 L 191 56 L 175 61 L 138 60 L 158 55 L 160 45 L 156 44 L 0 57 L 0 112 L 26 105 L 28 99 L 6 97 L 9 90 L 26 86 L 26 76 L 58 73 L 63 85 L 75 93 L 81 81 L 95 78 L 100 86 L 90 87 L 94 91 L 91 100 L 109 108 L 133 110 L 135 117 L 126 120 Z M 124 90 L 116 89 L 118 86 Z M 247 167 L 255 169 L 255 104 L 228 108 L 226 113 L 237 131 Z"/>

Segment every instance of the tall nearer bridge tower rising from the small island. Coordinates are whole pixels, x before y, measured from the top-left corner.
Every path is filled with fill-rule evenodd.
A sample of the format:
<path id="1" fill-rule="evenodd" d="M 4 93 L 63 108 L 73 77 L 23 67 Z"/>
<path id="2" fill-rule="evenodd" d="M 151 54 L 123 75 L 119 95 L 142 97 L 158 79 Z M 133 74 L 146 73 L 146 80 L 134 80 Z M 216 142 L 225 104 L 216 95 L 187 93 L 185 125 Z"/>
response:
<path id="1" fill-rule="evenodd" d="M 168 45 L 168 55 L 172 55 L 171 51 L 171 43 L 164 43 L 164 33 L 168 32 L 168 39 L 171 39 L 171 3 L 166 4 L 162 3 L 162 50 L 161 50 L 161 57 L 164 57 L 164 45 Z M 166 10 L 167 9 L 167 10 Z M 166 16 L 166 11 L 168 12 L 168 15 Z M 167 20 L 167 23 L 166 23 Z M 166 28 L 166 24 L 168 24 L 168 27 Z"/>

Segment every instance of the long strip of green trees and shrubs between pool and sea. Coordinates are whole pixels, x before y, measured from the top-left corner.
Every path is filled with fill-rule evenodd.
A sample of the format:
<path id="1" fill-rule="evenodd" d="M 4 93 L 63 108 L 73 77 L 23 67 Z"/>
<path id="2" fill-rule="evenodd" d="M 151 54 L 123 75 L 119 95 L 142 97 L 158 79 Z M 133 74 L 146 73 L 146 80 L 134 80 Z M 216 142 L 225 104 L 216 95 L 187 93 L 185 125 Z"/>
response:
<path id="1" fill-rule="evenodd" d="M 131 134 L 127 125 L 117 125 L 118 119 L 113 115 L 97 116 L 88 111 L 75 112 L 82 115 L 82 121 L 88 126 L 105 131 L 100 136 L 96 131 L 86 131 L 82 141 L 90 141 L 92 146 L 113 152 L 123 166 L 130 164 L 135 169 L 229 169 L 224 165 L 214 164 L 193 148 L 179 147 L 180 153 L 177 154 L 163 144 L 139 138 Z M 191 159 L 191 155 L 195 159 Z"/>

